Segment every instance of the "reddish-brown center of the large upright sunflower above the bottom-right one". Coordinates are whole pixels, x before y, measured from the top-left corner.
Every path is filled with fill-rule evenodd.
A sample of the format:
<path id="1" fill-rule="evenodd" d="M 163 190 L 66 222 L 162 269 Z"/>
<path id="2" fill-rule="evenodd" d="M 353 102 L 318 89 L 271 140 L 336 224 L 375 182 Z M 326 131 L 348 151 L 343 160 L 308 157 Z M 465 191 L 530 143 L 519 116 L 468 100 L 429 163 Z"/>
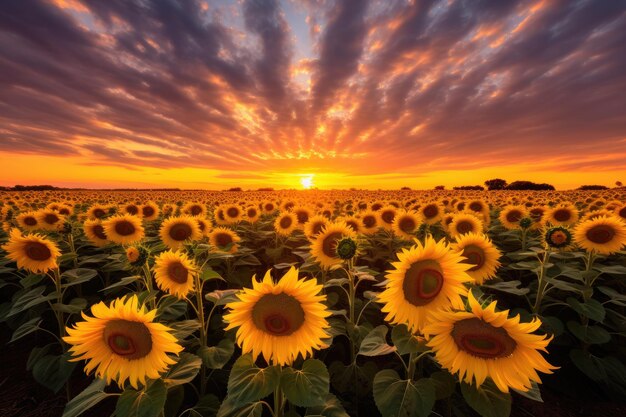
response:
<path id="1" fill-rule="evenodd" d="M 404 298 L 415 306 L 430 303 L 441 292 L 443 274 L 435 261 L 416 262 L 406 271 L 402 290 Z"/>

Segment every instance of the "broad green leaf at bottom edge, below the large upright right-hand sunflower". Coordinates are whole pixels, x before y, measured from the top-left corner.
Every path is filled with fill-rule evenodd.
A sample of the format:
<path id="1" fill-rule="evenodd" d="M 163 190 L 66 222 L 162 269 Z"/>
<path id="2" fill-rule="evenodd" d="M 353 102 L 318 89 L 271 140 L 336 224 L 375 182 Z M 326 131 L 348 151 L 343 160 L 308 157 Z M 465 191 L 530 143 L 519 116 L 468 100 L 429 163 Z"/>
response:
<path id="1" fill-rule="evenodd" d="M 426 417 L 435 405 L 435 387 L 427 379 L 400 379 L 384 369 L 374 377 L 374 401 L 383 417 Z"/>

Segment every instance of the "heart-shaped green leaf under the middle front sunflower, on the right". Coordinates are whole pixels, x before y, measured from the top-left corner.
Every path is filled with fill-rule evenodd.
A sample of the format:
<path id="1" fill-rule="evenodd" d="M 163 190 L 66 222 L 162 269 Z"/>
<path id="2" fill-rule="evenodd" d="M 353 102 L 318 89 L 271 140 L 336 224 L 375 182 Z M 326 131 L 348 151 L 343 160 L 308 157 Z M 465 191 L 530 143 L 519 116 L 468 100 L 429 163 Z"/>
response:
<path id="1" fill-rule="evenodd" d="M 280 386 L 287 399 L 298 407 L 321 406 L 330 389 L 330 376 L 324 362 L 308 359 L 302 370 L 283 368 Z"/>

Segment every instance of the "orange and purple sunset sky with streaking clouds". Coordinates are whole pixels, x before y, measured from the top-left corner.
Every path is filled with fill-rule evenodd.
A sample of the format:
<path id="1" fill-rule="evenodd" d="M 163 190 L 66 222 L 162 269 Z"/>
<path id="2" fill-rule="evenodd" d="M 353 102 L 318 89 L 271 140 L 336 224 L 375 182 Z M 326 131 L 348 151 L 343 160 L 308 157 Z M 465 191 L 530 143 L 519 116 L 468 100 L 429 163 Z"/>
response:
<path id="1" fill-rule="evenodd" d="M 5 0 L 0 185 L 626 182 L 624 0 Z"/>

